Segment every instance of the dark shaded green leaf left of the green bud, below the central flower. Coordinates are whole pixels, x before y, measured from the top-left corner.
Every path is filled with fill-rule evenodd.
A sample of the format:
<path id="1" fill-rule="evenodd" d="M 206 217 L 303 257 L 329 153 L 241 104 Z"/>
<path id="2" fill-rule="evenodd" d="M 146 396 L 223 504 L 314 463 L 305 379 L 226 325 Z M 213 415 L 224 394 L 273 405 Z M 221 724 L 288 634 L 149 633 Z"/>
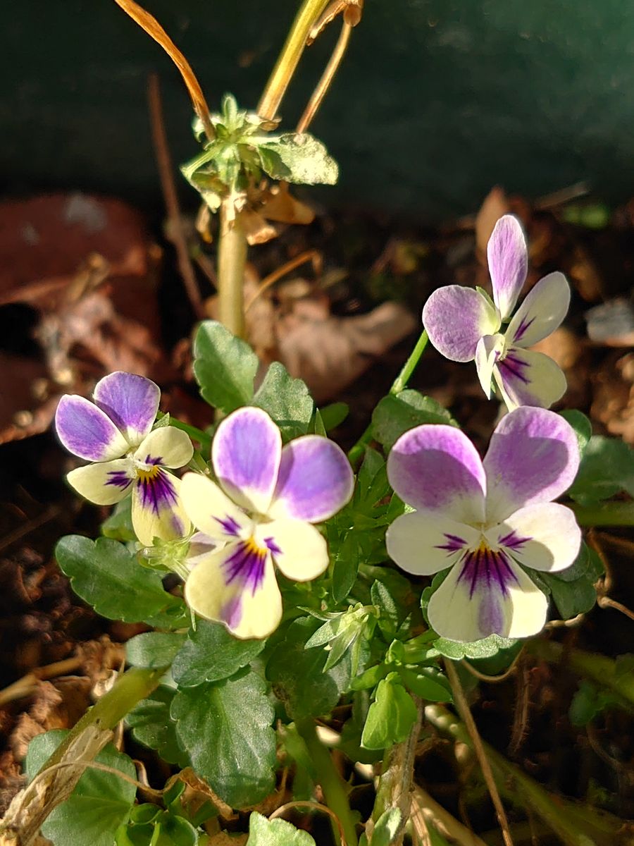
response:
<path id="1" fill-rule="evenodd" d="M 314 618 L 294 620 L 266 665 L 276 696 L 295 720 L 331 711 L 350 681 L 346 659 L 324 672 L 328 652 L 320 647 L 305 648 L 318 628 L 319 621 Z"/>

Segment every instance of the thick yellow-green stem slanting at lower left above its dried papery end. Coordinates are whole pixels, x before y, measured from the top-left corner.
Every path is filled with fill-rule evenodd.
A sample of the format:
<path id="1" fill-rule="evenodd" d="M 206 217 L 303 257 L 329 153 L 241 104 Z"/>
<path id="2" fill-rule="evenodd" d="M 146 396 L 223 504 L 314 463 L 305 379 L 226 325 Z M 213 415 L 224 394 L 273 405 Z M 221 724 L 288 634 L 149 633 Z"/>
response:
<path id="1" fill-rule="evenodd" d="M 41 766 L 40 772 L 46 770 L 49 766 L 53 766 L 53 764 L 59 763 L 68 746 L 88 726 L 95 725 L 101 730 L 114 728 L 129 711 L 132 711 L 137 702 L 145 699 L 152 690 L 158 687 L 166 670 L 167 667 L 158 667 L 157 669 L 132 667 L 127 673 L 123 673 L 123 676 L 120 676 L 112 685 L 112 689 L 101 696 L 96 705 L 92 706 L 90 711 L 86 711 L 79 722 L 74 724 L 62 743 L 57 746 L 51 757 Z"/>

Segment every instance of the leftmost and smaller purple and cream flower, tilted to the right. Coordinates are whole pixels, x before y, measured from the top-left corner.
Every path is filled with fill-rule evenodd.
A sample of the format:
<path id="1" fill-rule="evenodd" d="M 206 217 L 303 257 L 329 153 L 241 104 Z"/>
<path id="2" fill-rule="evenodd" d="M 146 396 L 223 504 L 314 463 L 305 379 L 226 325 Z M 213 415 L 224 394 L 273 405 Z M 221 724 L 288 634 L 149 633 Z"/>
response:
<path id="1" fill-rule="evenodd" d="M 132 494 L 132 525 L 142 544 L 189 532 L 180 480 L 166 468 L 183 467 L 194 454 L 184 431 L 152 430 L 161 390 L 145 376 L 117 371 L 96 383 L 94 403 L 65 394 L 57 405 L 57 436 L 69 452 L 94 462 L 68 473 L 75 491 L 97 505 Z"/>

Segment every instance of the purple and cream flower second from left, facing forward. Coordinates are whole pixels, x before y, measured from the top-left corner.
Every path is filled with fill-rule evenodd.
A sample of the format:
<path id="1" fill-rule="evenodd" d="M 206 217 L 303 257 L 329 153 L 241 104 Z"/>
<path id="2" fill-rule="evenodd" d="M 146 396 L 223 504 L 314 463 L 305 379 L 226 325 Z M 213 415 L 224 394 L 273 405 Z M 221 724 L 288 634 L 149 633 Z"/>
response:
<path id="1" fill-rule="evenodd" d="M 281 446 L 265 411 L 246 407 L 222 420 L 211 448 L 217 484 L 183 476 L 183 505 L 211 552 L 197 545 L 185 599 L 201 617 L 239 638 L 263 638 L 281 619 L 275 569 L 309 581 L 328 566 L 314 523 L 332 517 L 353 495 L 353 471 L 342 450 L 306 435 Z M 202 550 L 202 552 L 201 552 Z"/>

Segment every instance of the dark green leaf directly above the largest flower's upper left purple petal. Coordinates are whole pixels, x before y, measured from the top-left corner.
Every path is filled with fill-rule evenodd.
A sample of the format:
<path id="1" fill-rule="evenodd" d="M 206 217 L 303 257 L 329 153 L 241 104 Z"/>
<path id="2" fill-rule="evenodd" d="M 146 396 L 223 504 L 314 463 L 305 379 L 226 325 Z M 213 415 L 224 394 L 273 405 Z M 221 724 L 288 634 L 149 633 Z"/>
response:
<path id="1" fill-rule="evenodd" d="M 424 423 L 457 426 L 456 420 L 435 399 L 408 388 L 380 400 L 372 414 L 372 435 L 388 451 L 403 432 Z"/>

